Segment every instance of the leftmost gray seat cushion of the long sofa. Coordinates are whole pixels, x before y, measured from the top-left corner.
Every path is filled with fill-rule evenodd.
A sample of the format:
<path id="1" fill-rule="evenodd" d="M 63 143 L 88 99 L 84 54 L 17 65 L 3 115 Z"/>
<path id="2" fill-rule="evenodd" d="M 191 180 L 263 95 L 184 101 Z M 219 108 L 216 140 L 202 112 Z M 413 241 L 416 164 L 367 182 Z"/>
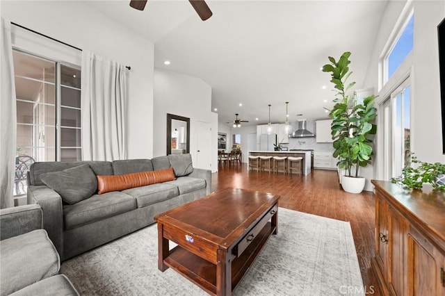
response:
<path id="1" fill-rule="evenodd" d="M 63 206 L 65 230 L 119 215 L 136 208 L 136 199 L 119 191 L 93 195 L 77 204 Z"/>

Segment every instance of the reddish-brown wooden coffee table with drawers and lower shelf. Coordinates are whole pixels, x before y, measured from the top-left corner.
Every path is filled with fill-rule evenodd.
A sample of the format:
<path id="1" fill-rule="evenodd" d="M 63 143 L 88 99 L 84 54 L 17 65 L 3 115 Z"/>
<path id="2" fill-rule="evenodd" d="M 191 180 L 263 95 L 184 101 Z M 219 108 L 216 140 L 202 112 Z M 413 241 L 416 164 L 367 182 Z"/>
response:
<path id="1" fill-rule="evenodd" d="M 231 295 L 277 233 L 278 199 L 226 188 L 156 215 L 159 270 L 170 267 L 207 293 Z M 170 250 L 169 240 L 177 247 Z"/>

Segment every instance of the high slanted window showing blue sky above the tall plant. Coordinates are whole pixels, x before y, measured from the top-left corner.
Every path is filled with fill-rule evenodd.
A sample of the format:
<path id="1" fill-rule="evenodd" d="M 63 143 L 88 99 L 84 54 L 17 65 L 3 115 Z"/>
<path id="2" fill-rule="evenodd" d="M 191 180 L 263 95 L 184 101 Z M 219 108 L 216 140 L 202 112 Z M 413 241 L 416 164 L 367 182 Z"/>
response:
<path id="1" fill-rule="evenodd" d="M 414 47 L 414 15 L 411 15 L 401 34 L 385 56 L 385 83 L 394 75 Z"/>

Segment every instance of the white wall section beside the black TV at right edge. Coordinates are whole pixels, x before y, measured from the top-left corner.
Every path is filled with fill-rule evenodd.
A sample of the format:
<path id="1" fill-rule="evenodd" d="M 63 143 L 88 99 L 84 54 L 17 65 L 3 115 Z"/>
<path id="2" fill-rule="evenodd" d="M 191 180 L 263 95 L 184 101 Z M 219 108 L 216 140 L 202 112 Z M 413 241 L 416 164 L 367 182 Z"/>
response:
<path id="1" fill-rule="evenodd" d="M 444 17 L 445 1 L 414 1 L 412 151 L 429 163 L 445 162 L 437 44 L 437 25 Z"/>

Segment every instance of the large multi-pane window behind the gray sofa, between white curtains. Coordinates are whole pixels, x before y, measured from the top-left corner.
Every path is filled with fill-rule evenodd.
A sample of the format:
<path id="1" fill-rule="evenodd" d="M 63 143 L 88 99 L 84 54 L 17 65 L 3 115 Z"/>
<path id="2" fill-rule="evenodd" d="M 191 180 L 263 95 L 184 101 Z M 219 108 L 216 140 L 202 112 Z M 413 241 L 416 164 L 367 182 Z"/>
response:
<path id="1" fill-rule="evenodd" d="M 81 71 L 17 50 L 13 61 L 17 94 L 14 195 L 22 195 L 33 161 L 81 160 Z"/>

